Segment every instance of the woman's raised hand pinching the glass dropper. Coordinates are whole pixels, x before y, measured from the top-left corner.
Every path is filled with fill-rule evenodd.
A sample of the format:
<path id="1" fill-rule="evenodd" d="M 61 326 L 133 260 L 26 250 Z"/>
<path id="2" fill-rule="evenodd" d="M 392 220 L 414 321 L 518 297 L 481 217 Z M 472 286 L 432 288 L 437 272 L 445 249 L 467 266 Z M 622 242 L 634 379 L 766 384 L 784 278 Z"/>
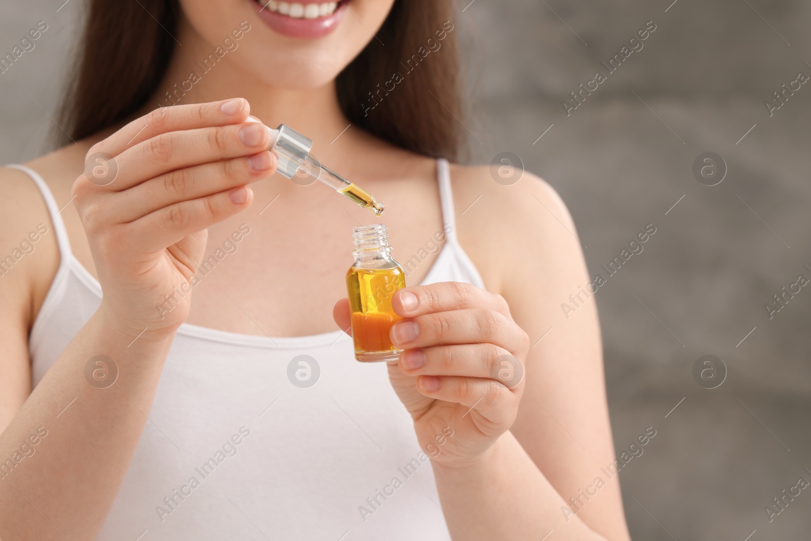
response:
<path id="1" fill-rule="evenodd" d="M 118 328 L 171 333 L 191 295 L 166 298 L 191 280 L 206 228 L 251 204 L 247 184 L 268 178 L 276 157 L 268 130 L 242 98 L 153 110 L 88 151 L 73 185 L 104 296 Z"/>

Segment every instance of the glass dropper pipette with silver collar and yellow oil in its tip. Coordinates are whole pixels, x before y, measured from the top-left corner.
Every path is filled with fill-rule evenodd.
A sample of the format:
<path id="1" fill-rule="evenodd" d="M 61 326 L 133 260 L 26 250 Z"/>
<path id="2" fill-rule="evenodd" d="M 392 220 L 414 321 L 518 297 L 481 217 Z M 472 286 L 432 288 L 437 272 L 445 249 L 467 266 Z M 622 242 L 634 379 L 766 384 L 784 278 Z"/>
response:
<path id="1" fill-rule="evenodd" d="M 279 158 L 278 173 L 286 178 L 307 174 L 324 182 L 328 187 L 345 195 L 363 208 L 370 209 L 375 216 L 383 213 L 383 204 L 378 203 L 368 191 L 343 178 L 321 164 L 315 157 L 310 156 L 312 140 L 285 124 L 280 124 L 277 129 L 270 130 L 270 132 L 273 142 L 268 150 Z"/>

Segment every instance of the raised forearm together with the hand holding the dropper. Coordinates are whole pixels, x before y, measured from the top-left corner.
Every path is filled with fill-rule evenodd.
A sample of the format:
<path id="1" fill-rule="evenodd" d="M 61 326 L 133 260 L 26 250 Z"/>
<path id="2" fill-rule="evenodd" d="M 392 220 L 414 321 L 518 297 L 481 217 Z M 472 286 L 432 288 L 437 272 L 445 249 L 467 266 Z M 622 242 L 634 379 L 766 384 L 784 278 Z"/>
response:
<path id="1" fill-rule="evenodd" d="M 16 398 L 0 411 L 12 418 L 0 435 L 0 539 L 95 539 L 101 529 L 189 296 L 169 313 L 159 306 L 191 280 L 206 228 L 247 208 L 246 185 L 275 170 L 266 128 L 246 122 L 247 102 L 229 102 L 153 111 L 88 152 L 100 177 L 79 176 L 73 191 L 104 297 L 22 407 L 28 305 L 4 315 L 16 338 L 0 354 L 15 376 L 2 386 Z M 32 283 L 0 282 L 0 298 Z"/>

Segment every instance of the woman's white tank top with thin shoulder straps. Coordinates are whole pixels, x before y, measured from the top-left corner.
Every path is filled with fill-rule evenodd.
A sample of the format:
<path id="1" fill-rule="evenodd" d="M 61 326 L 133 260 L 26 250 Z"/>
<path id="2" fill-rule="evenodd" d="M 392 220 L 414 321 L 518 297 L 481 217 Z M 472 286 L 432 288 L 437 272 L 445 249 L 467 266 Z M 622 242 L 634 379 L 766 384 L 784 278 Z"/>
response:
<path id="1" fill-rule="evenodd" d="M 42 178 L 10 167 L 42 191 L 61 254 L 28 338 L 36 385 L 99 307 L 101 286 L 71 253 Z M 447 161 L 437 177 L 449 233 L 423 284 L 483 287 L 457 242 Z M 182 324 L 98 539 L 448 541 L 439 504 L 385 365 L 356 362 L 343 332 L 271 338 Z"/>

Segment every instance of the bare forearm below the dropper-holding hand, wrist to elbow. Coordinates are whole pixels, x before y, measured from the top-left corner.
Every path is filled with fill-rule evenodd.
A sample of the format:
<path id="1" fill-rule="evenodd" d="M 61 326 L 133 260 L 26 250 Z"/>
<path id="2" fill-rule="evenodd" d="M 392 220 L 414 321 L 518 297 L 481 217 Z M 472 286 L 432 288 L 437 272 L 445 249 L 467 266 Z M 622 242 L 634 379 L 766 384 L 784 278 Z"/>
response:
<path id="1" fill-rule="evenodd" d="M 93 539 L 113 504 L 173 335 L 128 347 L 135 335 L 107 321 L 101 312 L 88 321 L 0 436 L 4 539 Z M 85 378 L 97 355 L 118 368 L 108 389 Z M 105 364 L 93 369 L 114 370 Z"/>

